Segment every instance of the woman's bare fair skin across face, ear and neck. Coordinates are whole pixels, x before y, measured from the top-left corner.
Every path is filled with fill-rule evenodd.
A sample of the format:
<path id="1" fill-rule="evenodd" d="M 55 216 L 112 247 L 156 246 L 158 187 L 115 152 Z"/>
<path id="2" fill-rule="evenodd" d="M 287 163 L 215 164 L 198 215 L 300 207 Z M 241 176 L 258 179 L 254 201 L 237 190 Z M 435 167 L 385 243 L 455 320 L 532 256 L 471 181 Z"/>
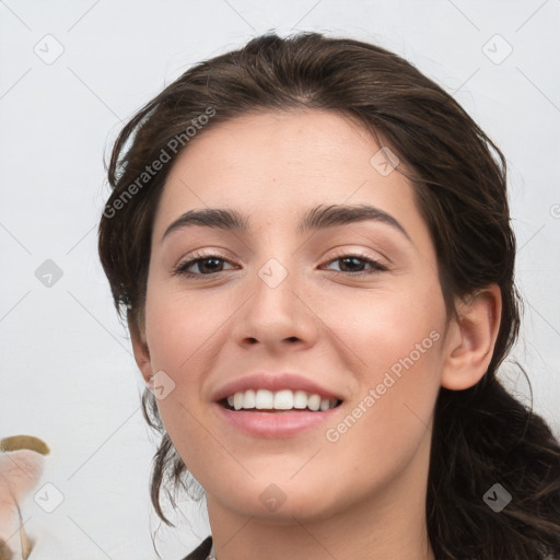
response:
<path id="1" fill-rule="evenodd" d="M 206 490 L 219 560 L 434 558 L 424 509 L 438 392 L 483 375 L 501 299 L 494 284 L 457 299 L 459 320 L 447 322 L 412 187 L 398 166 L 384 176 L 370 163 L 378 150 L 332 113 L 259 113 L 200 132 L 171 170 L 153 228 L 144 323 L 131 326 L 132 343 L 148 386 L 153 374 L 175 384 L 159 410 Z M 410 240 L 380 221 L 298 232 L 304 211 L 341 203 L 382 209 Z M 162 241 L 180 214 L 203 208 L 246 213 L 250 229 L 191 225 Z M 196 249 L 225 260 L 192 265 L 198 279 L 174 275 Z M 357 253 L 387 270 L 363 260 L 345 267 L 340 259 Z M 270 258 L 288 271 L 276 288 L 258 275 Z M 203 265 L 218 272 L 209 277 Z M 363 410 L 370 389 L 433 331 L 439 340 L 328 441 L 326 430 L 360 402 Z M 335 420 L 283 439 L 226 423 L 212 394 L 267 370 L 336 390 L 343 404 Z M 259 500 L 270 483 L 285 497 L 275 511 Z"/>

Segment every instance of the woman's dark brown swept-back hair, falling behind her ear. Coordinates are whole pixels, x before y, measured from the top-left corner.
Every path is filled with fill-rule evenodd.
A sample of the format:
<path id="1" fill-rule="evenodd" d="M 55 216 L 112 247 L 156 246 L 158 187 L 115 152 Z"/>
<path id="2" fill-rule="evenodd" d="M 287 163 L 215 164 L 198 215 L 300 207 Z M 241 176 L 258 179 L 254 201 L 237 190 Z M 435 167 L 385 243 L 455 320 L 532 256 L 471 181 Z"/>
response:
<path id="1" fill-rule="evenodd" d="M 494 282 L 501 290 L 501 326 L 487 373 L 465 390 L 442 387 L 435 405 L 427 498 L 435 557 L 560 558 L 559 442 L 497 378 L 520 328 L 505 159 L 451 95 L 397 55 L 317 33 L 287 38 L 269 33 L 194 66 L 139 110 L 114 145 L 113 192 L 100 223 L 101 261 L 117 308 L 128 305 L 131 328 L 142 324 L 152 223 L 177 154 L 218 122 L 298 108 L 357 119 L 404 163 L 399 170 L 415 186 L 436 248 L 450 317 L 453 296 Z M 158 172 L 147 172 L 164 159 Z M 148 389 L 142 410 L 162 434 L 152 503 L 173 525 L 161 510 L 162 485 L 189 490 L 197 483 Z M 499 513 L 483 500 L 495 483 L 512 494 Z M 168 490 L 167 495 L 175 505 Z"/>

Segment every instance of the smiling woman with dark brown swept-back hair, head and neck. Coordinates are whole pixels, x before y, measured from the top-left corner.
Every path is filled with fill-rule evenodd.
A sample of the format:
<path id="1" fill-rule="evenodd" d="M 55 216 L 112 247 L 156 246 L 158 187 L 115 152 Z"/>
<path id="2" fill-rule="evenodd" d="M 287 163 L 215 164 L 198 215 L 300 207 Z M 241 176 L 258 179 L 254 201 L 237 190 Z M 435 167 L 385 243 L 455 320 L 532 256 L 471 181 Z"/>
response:
<path id="1" fill-rule="evenodd" d="M 559 443 L 497 380 L 520 326 L 505 161 L 440 86 L 267 34 L 147 104 L 108 178 L 152 502 L 171 524 L 165 477 L 207 500 L 187 558 L 559 557 Z"/>

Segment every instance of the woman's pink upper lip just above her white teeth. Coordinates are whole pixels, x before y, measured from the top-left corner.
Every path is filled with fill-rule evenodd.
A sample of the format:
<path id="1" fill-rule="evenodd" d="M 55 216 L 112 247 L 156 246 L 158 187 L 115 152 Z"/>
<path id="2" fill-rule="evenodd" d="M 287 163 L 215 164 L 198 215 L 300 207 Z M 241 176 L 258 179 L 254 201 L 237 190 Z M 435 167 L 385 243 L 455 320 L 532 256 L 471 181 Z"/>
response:
<path id="1" fill-rule="evenodd" d="M 268 389 L 271 392 L 291 389 L 305 390 L 310 394 L 319 395 L 322 398 L 336 398 L 342 400 L 336 393 L 322 387 L 314 381 L 294 373 L 266 373 L 259 372 L 238 380 L 233 380 L 222 385 L 213 395 L 213 400 L 219 401 L 235 393 L 242 393 L 247 389 Z"/>

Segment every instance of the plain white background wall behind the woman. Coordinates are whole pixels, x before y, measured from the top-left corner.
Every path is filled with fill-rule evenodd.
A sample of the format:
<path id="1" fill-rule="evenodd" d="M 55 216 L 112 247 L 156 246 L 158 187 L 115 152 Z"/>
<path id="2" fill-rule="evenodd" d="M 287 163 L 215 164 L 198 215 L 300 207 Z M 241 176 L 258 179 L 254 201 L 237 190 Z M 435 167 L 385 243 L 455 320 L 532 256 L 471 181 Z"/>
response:
<path id="1" fill-rule="evenodd" d="M 0 2 L 0 438 L 47 442 L 37 489 L 63 494 L 52 513 L 32 497 L 22 504 L 33 558 L 156 558 L 155 442 L 96 255 L 103 158 L 124 121 L 190 65 L 269 30 L 395 50 L 503 150 L 526 307 L 515 355 L 535 410 L 560 435 L 559 24 L 558 0 Z M 51 63 L 34 50 L 46 58 L 57 48 Z M 62 271 L 49 288 L 35 276 L 46 259 Z M 509 383 L 527 395 L 522 377 Z M 198 506 L 174 521 L 155 538 L 170 560 L 209 533 Z"/>

